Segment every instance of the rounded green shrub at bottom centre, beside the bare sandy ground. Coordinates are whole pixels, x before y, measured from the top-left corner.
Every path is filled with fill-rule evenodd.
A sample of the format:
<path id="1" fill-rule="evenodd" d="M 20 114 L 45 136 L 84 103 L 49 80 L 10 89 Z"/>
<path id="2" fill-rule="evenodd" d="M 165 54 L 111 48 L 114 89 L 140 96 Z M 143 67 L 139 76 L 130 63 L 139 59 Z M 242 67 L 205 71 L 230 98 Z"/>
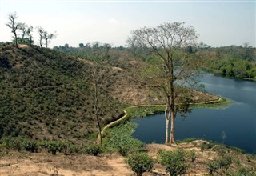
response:
<path id="1" fill-rule="evenodd" d="M 146 153 L 134 153 L 127 158 L 127 163 L 137 176 L 144 172 L 150 172 L 154 166 L 154 160 Z"/>

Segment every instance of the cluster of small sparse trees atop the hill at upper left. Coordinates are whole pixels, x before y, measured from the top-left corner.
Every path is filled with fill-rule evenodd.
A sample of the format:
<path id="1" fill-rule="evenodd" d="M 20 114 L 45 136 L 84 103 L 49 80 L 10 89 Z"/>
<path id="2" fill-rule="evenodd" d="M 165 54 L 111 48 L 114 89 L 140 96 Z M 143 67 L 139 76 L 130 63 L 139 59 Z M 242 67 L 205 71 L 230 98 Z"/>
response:
<path id="1" fill-rule="evenodd" d="M 10 27 L 11 33 L 14 34 L 13 41 L 15 42 L 15 46 L 18 47 L 18 43 L 29 44 L 32 46 L 34 44 L 34 36 L 33 36 L 33 26 L 28 26 L 24 22 L 17 22 L 18 15 L 16 13 L 9 14 L 8 19 L 9 22 L 6 23 L 6 26 Z M 42 26 L 36 27 L 39 34 L 39 45 L 43 47 L 43 45 L 48 47 L 49 42 L 56 38 L 55 33 L 49 33 L 42 28 Z"/>

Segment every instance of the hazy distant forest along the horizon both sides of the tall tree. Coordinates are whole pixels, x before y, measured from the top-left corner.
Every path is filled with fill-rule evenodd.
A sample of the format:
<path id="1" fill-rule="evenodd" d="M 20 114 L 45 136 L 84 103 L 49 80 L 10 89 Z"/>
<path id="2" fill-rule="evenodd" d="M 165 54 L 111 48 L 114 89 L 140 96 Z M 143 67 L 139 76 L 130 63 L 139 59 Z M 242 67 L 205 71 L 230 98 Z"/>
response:
<path id="1" fill-rule="evenodd" d="M 114 60 L 142 60 L 152 58 L 146 45 L 136 43 L 134 38 L 128 38 L 126 46 L 113 47 L 108 43 L 79 43 L 78 47 L 54 46 L 54 50 L 82 56 L 86 59 L 93 58 L 98 53 L 102 58 Z M 212 47 L 203 42 L 177 48 L 179 53 L 195 54 L 203 62 L 202 69 L 230 78 L 256 80 L 256 49 L 244 43 L 242 46 Z M 178 62 L 176 64 L 179 64 Z"/>

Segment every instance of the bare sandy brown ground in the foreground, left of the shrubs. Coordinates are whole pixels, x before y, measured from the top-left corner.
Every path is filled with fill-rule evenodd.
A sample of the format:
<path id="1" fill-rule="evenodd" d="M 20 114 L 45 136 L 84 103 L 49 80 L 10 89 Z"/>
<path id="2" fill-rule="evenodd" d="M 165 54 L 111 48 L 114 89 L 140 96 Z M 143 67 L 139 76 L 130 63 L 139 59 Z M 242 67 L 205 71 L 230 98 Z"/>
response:
<path id="1" fill-rule="evenodd" d="M 93 157 L 85 154 L 12 153 L 0 158 L 0 175 L 68 175 L 68 176 L 119 176 L 131 175 L 125 159 L 118 154 Z"/>

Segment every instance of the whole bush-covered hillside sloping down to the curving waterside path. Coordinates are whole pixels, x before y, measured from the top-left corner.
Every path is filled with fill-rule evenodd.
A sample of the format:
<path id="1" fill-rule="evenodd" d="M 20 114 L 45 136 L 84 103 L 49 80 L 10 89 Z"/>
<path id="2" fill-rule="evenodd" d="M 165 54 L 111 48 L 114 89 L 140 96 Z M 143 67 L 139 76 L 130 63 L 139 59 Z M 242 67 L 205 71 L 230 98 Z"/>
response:
<path id="1" fill-rule="evenodd" d="M 95 58 L 81 57 L 0 43 L 0 138 L 22 136 L 80 144 L 96 137 Z M 143 64 L 120 52 L 100 63 L 105 77 L 102 126 L 119 118 L 126 106 L 164 103 L 140 79 Z M 194 92 L 194 102 L 214 99 L 218 98 Z"/>

